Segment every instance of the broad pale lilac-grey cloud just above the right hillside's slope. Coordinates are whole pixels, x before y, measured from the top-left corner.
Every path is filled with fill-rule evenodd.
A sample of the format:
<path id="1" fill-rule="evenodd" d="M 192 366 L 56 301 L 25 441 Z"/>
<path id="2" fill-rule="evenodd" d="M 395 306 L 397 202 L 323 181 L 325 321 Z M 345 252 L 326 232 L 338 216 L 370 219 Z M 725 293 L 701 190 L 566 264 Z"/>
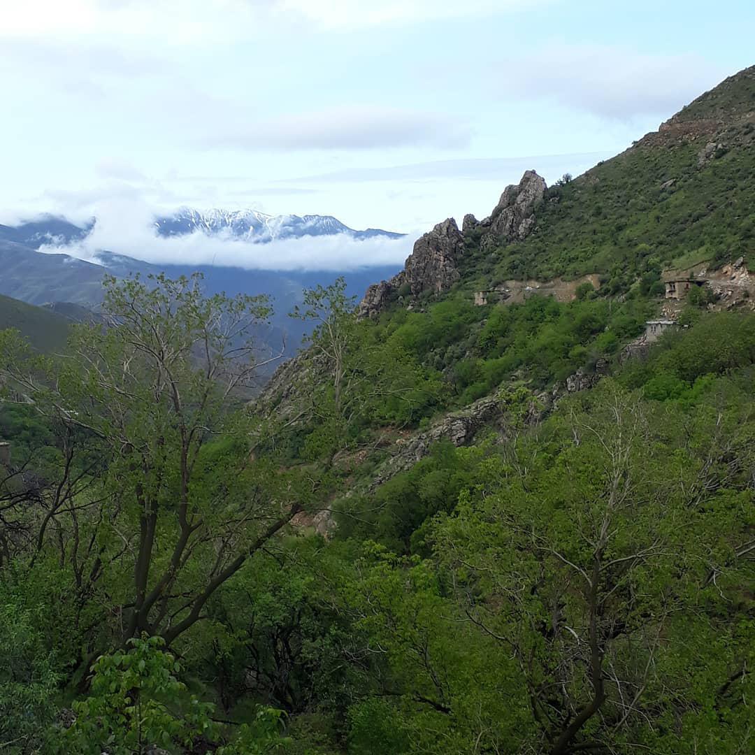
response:
<path id="1" fill-rule="evenodd" d="M 498 93 L 550 98 L 605 119 L 675 112 L 725 72 L 697 55 L 602 45 L 556 46 L 500 63 Z"/>

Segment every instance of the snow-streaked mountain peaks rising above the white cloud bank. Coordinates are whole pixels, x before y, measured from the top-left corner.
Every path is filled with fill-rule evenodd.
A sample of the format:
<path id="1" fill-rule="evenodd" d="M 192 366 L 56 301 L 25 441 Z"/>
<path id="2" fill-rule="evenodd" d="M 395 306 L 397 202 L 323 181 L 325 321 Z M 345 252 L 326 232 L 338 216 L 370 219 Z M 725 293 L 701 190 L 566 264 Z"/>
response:
<path id="1" fill-rule="evenodd" d="M 300 239 L 303 236 L 334 236 L 346 233 L 354 239 L 385 236 L 400 239 L 404 234 L 368 228 L 358 231 L 331 215 L 267 215 L 256 210 L 208 210 L 181 208 L 167 217 L 158 217 L 160 236 L 183 236 L 201 231 L 208 236 L 228 235 L 237 239 L 267 243 L 274 239 Z"/>

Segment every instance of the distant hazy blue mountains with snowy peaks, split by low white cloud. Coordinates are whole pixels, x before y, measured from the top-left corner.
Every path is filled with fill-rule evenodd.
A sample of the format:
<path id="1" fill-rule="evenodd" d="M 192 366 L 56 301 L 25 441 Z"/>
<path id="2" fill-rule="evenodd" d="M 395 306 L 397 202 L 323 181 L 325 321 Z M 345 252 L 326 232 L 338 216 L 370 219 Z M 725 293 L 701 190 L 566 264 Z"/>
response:
<path id="1" fill-rule="evenodd" d="M 82 241 L 91 233 L 95 223 L 93 219 L 89 223 L 76 225 L 62 217 L 48 215 L 13 227 L 0 225 L 0 294 L 29 304 L 66 302 L 96 309 L 102 299 L 102 279 L 106 273 L 125 277 L 134 273 L 145 276 L 164 272 L 170 277 L 177 277 L 199 271 L 205 276 L 208 294 L 226 291 L 228 294 L 241 292 L 272 297 L 275 315 L 270 331 L 271 340 L 277 343 L 285 341 L 286 353 L 294 353 L 305 327 L 300 321 L 288 318 L 288 312 L 300 302 L 304 288 L 328 285 L 339 274 L 337 271 L 282 272 L 214 265 L 156 265 L 108 250 L 102 250 L 98 255 L 101 264 L 94 264 L 67 254 L 39 252 L 45 245 L 65 247 Z M 400 239 L 403 236 L 402 233 L 376 229 L 353 230 L 329 215 L 273 216 L 254 210 L 205 212 L 183 208 L 172 215 L 157 217 L 155 228 L 159 236 L 165 237 L 200 232 L 211 237 L 263 244 L 279 239 L 340 234 L 357 240 L 377 236 Z M 350 294 L 361 297 L 368 285 L 389 278 L 399 267 L 396 264 L 351 270 L 344 273 L 347 289 Z M 3 323 L 0 322 L 0 329 L 2 327 Z M 276 343 L 270 345 L 276 348 Z"/>

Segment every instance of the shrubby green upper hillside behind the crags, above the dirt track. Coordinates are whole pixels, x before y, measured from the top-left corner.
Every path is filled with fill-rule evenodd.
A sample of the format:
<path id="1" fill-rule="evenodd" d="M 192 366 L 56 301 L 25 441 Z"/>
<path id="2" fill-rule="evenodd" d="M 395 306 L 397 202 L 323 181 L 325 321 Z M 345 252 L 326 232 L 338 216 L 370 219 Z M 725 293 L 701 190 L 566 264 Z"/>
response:
<path id="1" fill-rule="evenodd" d="M 606 293 L 681 261 L 755 269 L 755 67 L 699 97 L 621 155 L 553 186 L 524 241 L 474 251 L 474 285 L 602 273 Z"/>

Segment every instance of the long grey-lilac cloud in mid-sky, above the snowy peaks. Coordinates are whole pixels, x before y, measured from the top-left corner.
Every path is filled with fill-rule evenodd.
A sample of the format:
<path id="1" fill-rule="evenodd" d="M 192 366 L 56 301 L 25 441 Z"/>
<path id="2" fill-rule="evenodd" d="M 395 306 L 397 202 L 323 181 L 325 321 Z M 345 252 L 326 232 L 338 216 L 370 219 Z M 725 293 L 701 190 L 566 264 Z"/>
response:
<path id="1" fill-rule="evenodd" d="M 377 106 L 343 106 L 248 122 L 214 133 L 205 146 L 236 149 L 375 149 L 464 146 L 469 126 L 445 114 Z"/>

